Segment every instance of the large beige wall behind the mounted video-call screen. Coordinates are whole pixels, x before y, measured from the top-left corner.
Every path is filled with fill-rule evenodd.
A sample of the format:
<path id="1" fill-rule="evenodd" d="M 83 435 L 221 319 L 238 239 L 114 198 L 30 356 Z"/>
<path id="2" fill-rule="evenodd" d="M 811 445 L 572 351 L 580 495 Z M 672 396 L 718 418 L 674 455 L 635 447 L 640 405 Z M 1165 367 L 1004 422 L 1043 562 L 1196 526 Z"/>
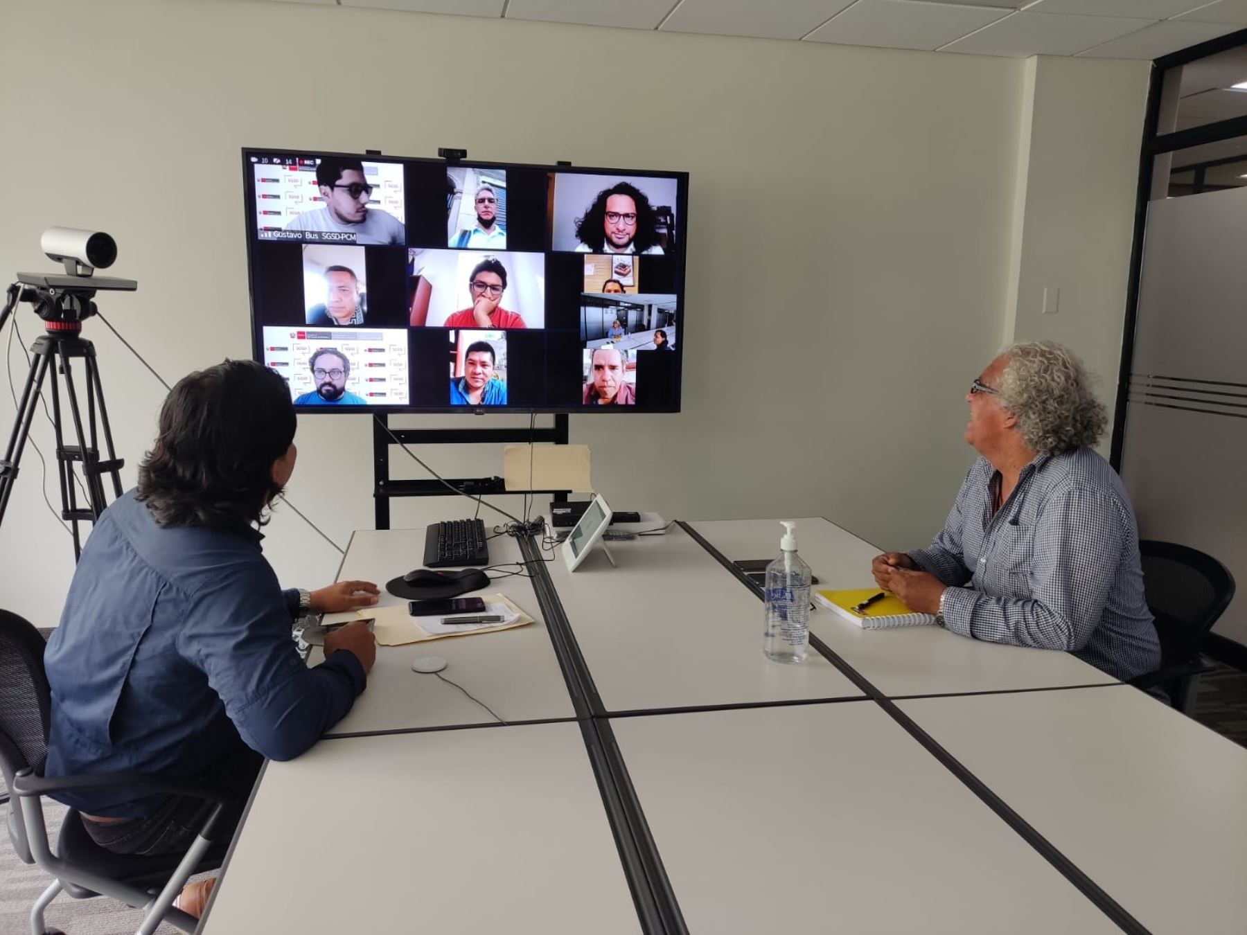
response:
<path id="1" fill-rule="evenodd" d="M 55 36 L 6 44 L 0 126 L 21 132 L 6 135 L 0 271 L 50 268 L 37 247 L 47 226 L 111 232 L 111 272 L 141 284 L 101 307 L 171 380 L 249 354 L 241 146 L 461 146 L 488 160 L 687 170 L 683 411 L 571 420 L 572 441 L 594 449 L 596 486 L 621 507 L 822 514 L 880 546 L 920 544 L 971 458 L 963 394 L 1006 333 L 1015 227 L 1019 294 L 1051 276 L 1074 283 L 1065 266 L 1087 289 L 1125 282 L 1121 204 L 1086 218 L 1064 188 L 1099 189 L 1101 168 L 1126 160 L 1129 213 L 1137 151 L 1122 138 L 1137 141 L 1129 125 L 1141 125 L 1145 91 L 1131 64 L 1054 69 L 1050 90 L 1040 70 L 1035 112 L 1057 126 L 1080 123 L 1089 97 L 1122 111 L 1111 132 L 1087 132 L 1102 152 L 1047 175 L 1033 158 L 1023 176 L 1025 219 L 1042 211 L 1045 238 L 1099 232 L 1051 269 L 1039 234 L 1014 222 L 1015 60 L 239 0 L 6 0 L 0 35 Z M 465 64 L 464 47 L 489 67 Z M 620 62 L 628 92 L 612 95 L 604 122 L 585 87 L 604 87 Z M 1042 160 L 1059 150 L 1045 143 Z M 1112 303 L 1079 314 L 1087 335 L 1120 332 Z M 20 324 L 29 342 L 34 317 Z M 87 334 L 128 484 L 163 390 L 99 322 Z M 24 368 L 16 349 L 11 359 Z M 0 426 L 11 418 L 0 391 Z M 47 434 L 41 420 L 35 436 Z M 368 420 L 303 418 L 298 445 L 292 500 L 342 544 L 370 527 Z M 488 446 L 421 454 L 450 476 L 501 472 Z M 49 623 L 71 550 L 37 495 L 32 451 L 22 467 L 0 529 L 0 601 Z M 333 576 L 338 555 L 289 511 L 267 534 L 287 583 Z"/>

